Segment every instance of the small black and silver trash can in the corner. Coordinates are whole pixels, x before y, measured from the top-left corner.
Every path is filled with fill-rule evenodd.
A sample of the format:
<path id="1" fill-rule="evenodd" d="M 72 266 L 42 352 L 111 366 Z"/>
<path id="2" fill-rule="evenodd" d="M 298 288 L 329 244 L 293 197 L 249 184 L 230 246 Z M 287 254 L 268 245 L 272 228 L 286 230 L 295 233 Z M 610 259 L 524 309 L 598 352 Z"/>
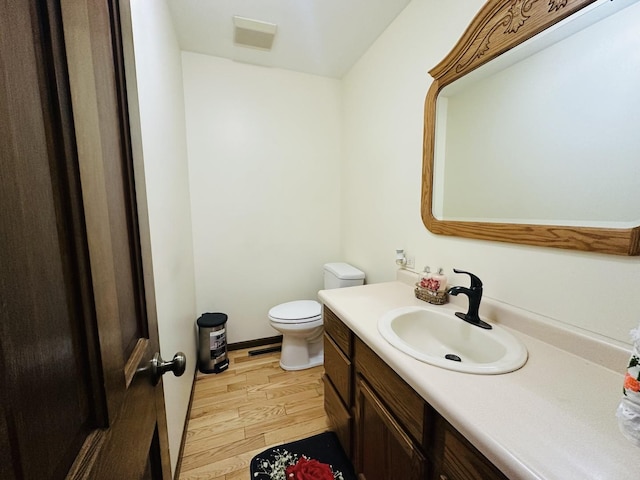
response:
<path id="1" fill-rule="evenodd" d="M 220 373 L 229 366 L 227 358 L 227 315 L 203 313 L 198 324 L 198 370 Z"/>

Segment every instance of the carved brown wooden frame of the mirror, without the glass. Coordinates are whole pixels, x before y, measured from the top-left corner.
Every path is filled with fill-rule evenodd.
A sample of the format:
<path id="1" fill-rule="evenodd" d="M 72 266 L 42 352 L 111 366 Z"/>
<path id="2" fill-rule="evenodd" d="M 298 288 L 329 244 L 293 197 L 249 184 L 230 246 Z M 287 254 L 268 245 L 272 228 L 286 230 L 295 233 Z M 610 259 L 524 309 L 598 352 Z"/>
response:
<path id="1" fill-rule="evenodd" d="M 422 221 L 439 235 L 565 248 L 615 255 L 640 255 L 640 226 L 596 228 L 562 225 L 438 220 L 434 217 L 433 171 L 436 99 L 458 78 L 537 35 L 596 0 L 488 0 L 453 50 L 429 71 L 434 81 L 425 101 Z"/>

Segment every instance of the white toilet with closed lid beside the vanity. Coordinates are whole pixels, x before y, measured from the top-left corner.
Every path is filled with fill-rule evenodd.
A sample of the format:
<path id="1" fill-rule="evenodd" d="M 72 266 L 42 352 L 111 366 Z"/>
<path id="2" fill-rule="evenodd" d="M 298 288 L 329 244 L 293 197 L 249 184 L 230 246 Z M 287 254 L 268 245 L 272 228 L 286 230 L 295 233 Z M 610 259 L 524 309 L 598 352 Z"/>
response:
<path id="1" fill-rule="evenodd" d="M 348 263 L 324 265 L 324 288 L 364 284 L 364 272 Z M 269 323 L 282 334 L 280 367 L 303 370 L 324 362 L 322 306 L 315 300 L 282 303 L 269 310 Z"/>

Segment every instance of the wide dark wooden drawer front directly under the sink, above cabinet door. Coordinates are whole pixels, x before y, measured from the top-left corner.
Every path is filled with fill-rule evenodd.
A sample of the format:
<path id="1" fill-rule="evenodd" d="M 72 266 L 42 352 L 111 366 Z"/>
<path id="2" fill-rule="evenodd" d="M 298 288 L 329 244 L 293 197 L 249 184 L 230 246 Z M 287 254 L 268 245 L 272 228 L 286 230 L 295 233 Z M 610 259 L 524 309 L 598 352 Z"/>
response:
<path id="1" fill-rule="evenodd" d="M 355 340 L 356 370 L 367 379 L 389 411 L 419 445 L 427 443 L 432 409 L 400 376 L 362 340 Z"/>

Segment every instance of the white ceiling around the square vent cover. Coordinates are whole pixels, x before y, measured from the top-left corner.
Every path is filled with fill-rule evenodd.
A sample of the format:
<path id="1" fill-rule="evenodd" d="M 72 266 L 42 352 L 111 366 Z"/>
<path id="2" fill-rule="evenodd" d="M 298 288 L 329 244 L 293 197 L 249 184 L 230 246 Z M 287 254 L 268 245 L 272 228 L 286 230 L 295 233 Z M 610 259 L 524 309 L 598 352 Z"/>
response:
<path id="1" fill-rule="evenodd" d="M 411 0 L 168 0 L 182 50 L 341 78 Z M 233 16 L 278 25 L 273 48 L 234 44 Z"/>

